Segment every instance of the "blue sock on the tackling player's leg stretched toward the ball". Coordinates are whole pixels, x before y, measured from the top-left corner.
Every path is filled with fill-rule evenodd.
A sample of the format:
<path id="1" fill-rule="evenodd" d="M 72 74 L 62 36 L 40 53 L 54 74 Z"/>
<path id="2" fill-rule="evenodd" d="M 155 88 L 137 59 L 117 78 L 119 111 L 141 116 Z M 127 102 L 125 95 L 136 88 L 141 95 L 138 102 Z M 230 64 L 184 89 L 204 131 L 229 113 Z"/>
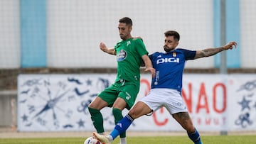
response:
<path id="1" fill-rule="evenodd" d="M 132 124 L 133 118 L 131 116 L 129 116 L 129 114 L 127 114 L 126 116 L 124 116 L 124 118 L 122 118 L 117 125 L 114 127 L 114 130 L 110 133 L 110 135 L 112 136 L 113 140 L 114 138 L 117 138 L 117 136 L 120 133 L 124 133 L 124 131 L 127 130 L 127 128 L 129 128 L 129 126 Z"/>

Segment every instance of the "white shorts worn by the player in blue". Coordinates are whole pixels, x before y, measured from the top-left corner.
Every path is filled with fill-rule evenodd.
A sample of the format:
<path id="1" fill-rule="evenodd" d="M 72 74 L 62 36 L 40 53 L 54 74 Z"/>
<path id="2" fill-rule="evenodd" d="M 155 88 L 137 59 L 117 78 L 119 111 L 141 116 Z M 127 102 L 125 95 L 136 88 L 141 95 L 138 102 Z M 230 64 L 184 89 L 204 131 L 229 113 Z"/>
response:
<path id="1" fill-rule="evenodd" d="M 151 89 L 147 96 L 140 101 L 149 106 L 152 111 L 156 111 L 164 106 L 169 113 L 187 112 L 181 92 L 176 89 Z"/>

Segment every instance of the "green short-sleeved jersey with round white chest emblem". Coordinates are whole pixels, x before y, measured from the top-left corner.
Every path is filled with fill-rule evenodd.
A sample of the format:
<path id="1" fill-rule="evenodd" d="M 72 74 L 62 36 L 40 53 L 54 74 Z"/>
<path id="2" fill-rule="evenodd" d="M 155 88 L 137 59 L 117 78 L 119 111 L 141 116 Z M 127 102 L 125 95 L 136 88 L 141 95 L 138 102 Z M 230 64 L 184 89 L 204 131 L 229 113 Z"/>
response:
<path id="1" fill-rule="evenodd" d="M 141 39 L 129 38 L 114 46 L 117 53 L 117 79 L 139 82 L 139 67 L 142 64 L 142 55 L 147 55 L 146 47 Z"/>

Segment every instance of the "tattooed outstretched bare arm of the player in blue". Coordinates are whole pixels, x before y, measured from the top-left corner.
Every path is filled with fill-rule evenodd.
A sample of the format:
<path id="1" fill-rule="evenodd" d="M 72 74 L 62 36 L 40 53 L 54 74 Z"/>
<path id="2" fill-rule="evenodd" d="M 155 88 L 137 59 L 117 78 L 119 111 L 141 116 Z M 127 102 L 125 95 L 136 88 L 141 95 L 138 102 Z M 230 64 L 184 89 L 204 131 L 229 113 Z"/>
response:
<path id="1" fill-rule="evenodd" d="M 233 41 L 220 48 L 206 48 L 204 50 L 197 50 L 195 59 L 202 58 L 202 57 L 210 57 L 212 55 L 217 54 L 218 52 L 222 52 L 223 50 L 229 50 L 229 49 L 232 50 L 233 47 L 236 48 L 237 45 L 238 43 Z"/>

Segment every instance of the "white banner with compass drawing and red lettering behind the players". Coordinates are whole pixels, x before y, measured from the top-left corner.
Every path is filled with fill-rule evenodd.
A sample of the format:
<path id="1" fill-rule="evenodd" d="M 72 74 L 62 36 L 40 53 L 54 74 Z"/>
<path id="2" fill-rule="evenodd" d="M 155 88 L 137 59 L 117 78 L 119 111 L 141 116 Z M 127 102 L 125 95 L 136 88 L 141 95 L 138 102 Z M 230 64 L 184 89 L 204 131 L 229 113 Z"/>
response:
<path id="1" fill-rule="evenodd" d="M 116 74 L 19 75 L 18 131 L 95 131 L 87 107 L 115 77 Z M 148 94 L 150 84 L 151 74 L 142 74 L 137 101 Z M 182 96 L 200 131 L 256 130 L 256 74 L 184 74 Z M 112 109 L 101 112 L 105 130 L 112 130 Z M 129 131 L 183 128 L 162 108 L 135 120 Z"/>

